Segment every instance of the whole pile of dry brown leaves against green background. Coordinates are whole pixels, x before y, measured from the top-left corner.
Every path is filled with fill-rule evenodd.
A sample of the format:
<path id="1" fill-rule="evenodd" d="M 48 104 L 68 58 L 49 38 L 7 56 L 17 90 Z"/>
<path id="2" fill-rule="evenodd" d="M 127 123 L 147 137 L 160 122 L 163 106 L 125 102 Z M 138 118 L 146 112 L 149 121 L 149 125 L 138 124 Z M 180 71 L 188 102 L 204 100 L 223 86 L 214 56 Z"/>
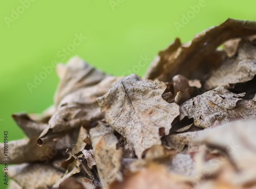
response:
<path id="1" fill-rule="evenodd" d="M 176 39 L 144 78 L 59 64 L 55 104 L 12 115 L 10 188 L 255 188 L 255 34 L 228 19 Z"/>

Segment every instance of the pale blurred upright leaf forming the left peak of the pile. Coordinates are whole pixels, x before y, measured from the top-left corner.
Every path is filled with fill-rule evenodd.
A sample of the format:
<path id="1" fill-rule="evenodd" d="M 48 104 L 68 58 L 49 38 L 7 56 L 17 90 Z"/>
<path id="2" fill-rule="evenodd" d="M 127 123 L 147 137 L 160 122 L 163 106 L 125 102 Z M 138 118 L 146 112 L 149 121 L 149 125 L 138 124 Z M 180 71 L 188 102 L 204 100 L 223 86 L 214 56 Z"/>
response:
<path id="1" fill-rule="evenodd" d="M 81 60 L 79 57 L 72 58 L 66 65 L 57 65 L 57 74 L 60 83 L 54 97 L 57 106 L 63 97 L 85 87 L 98 84 L 106 75 Z"/>

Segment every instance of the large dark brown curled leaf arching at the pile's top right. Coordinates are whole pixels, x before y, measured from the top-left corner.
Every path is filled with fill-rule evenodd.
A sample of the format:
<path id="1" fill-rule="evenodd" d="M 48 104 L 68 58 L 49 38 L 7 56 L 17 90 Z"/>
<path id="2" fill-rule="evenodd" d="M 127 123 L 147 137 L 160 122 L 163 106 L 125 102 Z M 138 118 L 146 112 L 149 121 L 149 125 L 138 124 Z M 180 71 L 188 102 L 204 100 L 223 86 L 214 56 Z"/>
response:
<path id="1" fill-rule="evenodd" d="M 170 82 L 173 76 L 182 74 L 187 78 L 202 76 L 203 72 L 217 68 L 225 57 L 224 51 L 216 50 L 223 42 L 256 34 L 256 22 L 227 19 L 195 36 L 187 43 L 179 39 L 159 53 L 159 58 L 148 69 L 145 78 L 158 78 Z M 185 68 L 185 69 L 184 69 Z M 204 70 L 200 70 L 204 68 Z M 200 72 L 201 73 L 198 73 Z"/>

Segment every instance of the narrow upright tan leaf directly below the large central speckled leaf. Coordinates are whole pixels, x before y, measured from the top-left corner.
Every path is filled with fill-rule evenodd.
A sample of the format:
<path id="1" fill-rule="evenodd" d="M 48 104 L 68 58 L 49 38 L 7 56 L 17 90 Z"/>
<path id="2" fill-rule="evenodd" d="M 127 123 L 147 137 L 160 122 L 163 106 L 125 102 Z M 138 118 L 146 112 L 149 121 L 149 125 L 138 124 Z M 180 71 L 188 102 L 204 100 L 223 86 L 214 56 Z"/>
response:
<path id="1" fill-rule="evenodd" d="M 122 149 L 117 148 L 118 140 L 111 127 L 102 122 L 90 129 L 94 159 L 103 188 L 114 180 L 121 180 Z"/>

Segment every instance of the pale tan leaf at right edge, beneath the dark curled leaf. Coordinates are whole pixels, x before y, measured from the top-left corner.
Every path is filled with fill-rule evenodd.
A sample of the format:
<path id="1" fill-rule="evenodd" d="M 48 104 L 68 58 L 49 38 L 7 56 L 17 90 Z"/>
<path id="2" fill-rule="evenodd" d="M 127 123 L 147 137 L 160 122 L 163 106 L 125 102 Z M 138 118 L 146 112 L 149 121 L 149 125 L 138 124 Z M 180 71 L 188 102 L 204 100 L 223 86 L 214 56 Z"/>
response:
<path id="1" fill-rule="evenodd" d="M 204 88 L 244 83 L 256 75 L 256 42 L 243 39 L 239 43 L 238 55 L 228 58 L 206 80 Z"/>

